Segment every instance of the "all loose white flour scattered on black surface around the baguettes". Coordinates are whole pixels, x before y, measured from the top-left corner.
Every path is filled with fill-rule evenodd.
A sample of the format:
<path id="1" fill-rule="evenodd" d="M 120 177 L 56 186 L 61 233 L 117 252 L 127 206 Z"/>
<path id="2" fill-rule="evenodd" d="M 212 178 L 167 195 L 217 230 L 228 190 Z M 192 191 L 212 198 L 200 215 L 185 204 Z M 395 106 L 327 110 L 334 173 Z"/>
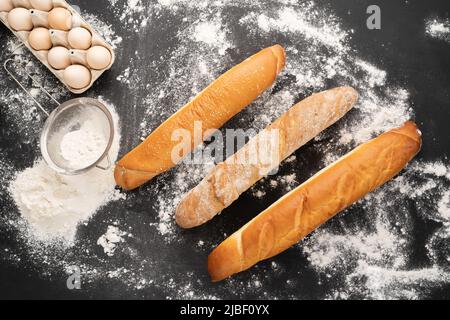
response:
<path id="1" fill-rule="evenodd" d="M 330 86 L 354 86 L 360 93 L 358 106 L 314 141 L 318 163 L 323 167 L 359 143 L 413 117 L 409 92 L 401 86 L 391 85 L 389 75 L 375 61 L 362 59 L 349 44 L 353 31 L 342 27 L 333 12 L 320 4 L 291 0 L 263 0 L 258 3 L 244 0 L 158 0 L 152 3 L 109 0 L 109 3 L 108 10 L 114 13 L 115 20 L 120 21 L 114 30 L 123 28 L 121 35 L 124 38 L 130 37 L 128 30 L 136 32 L 138 38 L 147 36 L 151 26 L 161 21 L 161 25 L 174 23 L 178 28 L 175 34 L 154 40 L 155 48 L 170 43 L 164 50 L 156 50 L 160 52 L 159 57 L 150 58 L 142 47 L 137 48 L 136 56 L 145 57 L 148 61 L 145 68 L 139 59 L 126 66 L 130 67 L 133 75 L 128 79 L 128 87 L 141 88 L 147 94 L 144 99 L 130 99 L 130 104 L 140 106 L 134 110 L 139 119 L 135 136 L 146 137 L 223 71 L 274 41 L 286 48 L 286 70 L 274 88 L 241 112 L 227 127 L 258 131 L 313 92 Z M 94 16 L 87 15 L 87 20 L 108 41 L 116 46 L 121 43 L 122 38 L 116 36 L 110 26 Z M 427 34 L 440 34 L 445 28 L 445 24 L 443 28 L 430 27 Z M 6 48 L 5 44 L 0 46 Z M 28 98 L 17 91 L 7 91 L 0 95 L 0 103 L 7 108 L 6 121 L 17 124 L 20 141 L 34 145 L 36 128 L 42 124 L 40 114 L 33 108 L 17 107 L 30 105 Z M 128 130 L 132 136 L 133 129 Z M 262 196 L 269 191 L 277 191 L 281 196 L 296 187 L 303 180 L 299 178 L 303 171 L 300 158 L 297 155 L 285 161 L 283 174 L 264 179 L 250 194 Z M 287 275 L 282 260 L 274 259 L 268 265 L 259 264 L 252 269 L 251 276 L 238 275 L 224 282 L 221 288 L 211 287 L 209 279 L 199 276 L 198 265 L 183 265 L 186 276 L 181 280 L 177 277 L 180 272 L 177 264 L 167 263 L 173 259 L 166 254 L 167 248 L 183 246 L 186 237 L 194 237 L 191 234 L 180 235 L 173 221 L 176 205 L 212 166 L 212 161 L 194 167 L 181 164 L 172 172 L 154 179 L 137 194 L 129 195 L 132 198 L 130 203 L 143 201 L 143 198 L 157 199 L 154 203 L 146 203 L 149 212 L 156 212 L 154 222 L 139 226 L 144 233 L 151 232 L 152 228 L 157 232 L 152 233 L 151 240 L 142 237 L 140 241 L 143 243 L 122 243 L 121 254 L 123 251 L 130 261 L 126 267 L 122 257 L 117 261 L 114 256 L 106 261 L 100 259 L 93 254 L 98 249 L 96 242 L 82 239 L 79 239 L 79 246 L 70 251 L 60 251 L 39 242 L 20 252 L 9 250 L 2 255 L 18 264 L 30 259 L 33 265 L 42 269 L 42 274 L 49 277 L 52 272 L 58 272 L 61 265 L 77 265 L 82 269 L 83 281 L 86 281 L 83 283 L 95 285 L 112 279 L 114 286 L 122 283 L 133 292 L 149 289 L 147 295 L 149 292 L 164 292 L 168 299 L 301 298 L 298 295 L 304 268 L 299 267 L 298 274 Z M 448 168 L 447 159 L 434 162 L 416 160 L 395 180 L 352 206 L 341 215 L 341 219 L 334 219 L 299 245 L 302 257 L 309 259 L 309 268 L 320 278 L 318 286 L 329 285 L 330 289 L 323 298 L 415 299 L 427 297 L 433 288 L 449 283 Z M 11 159 L 0 157 L 2 182 L 13 180 L 16 171 Z M 107 193 L 110 192 L 116 198 L 121 196 L 108 185 Z M 0 195 L 8 197 L 9 193 L 0 186 Z M 1 230 L 26 233 L 30 223 L 12 215 L 14 208 L 9 206 L 1 210 L 2 214 L 5 212 L 1 217 Z M 152 214 L 149 216 L 153 217 Z M 431 230 L 426 239 L 426 265 L 412 264 L 412 251 L 416 245 L 414 233 L 426 232 L 422 229 L 417 231 L 421 225 L 419 222 L 416 226 L 417 219 L 421 219 L 420 222 L 434 221 L 440 226 Z M 125 218 L 120 225 L 114 226 L 126 230 L 127 221 Z M 110 224 L 111 221 L 107 222 Z M 225 231 L 220 231 L 220 236 L 214 240 L 202 237 L 200 242 L 194 237 L 194 243 L 198 245 L 193 250 L 207 254 L 225 237 Z M 230 231 L 226 230 L 227 233 Z M 190 248 L 183 247 L 183 250 Z M 299 254 L 299 260 L 302 257 Z M 286 283 L 282 291 L 267 290 L 266 283 L 279 281 L 280 277 Z M 152 298 L 151 294 L 149 297 Z"/>

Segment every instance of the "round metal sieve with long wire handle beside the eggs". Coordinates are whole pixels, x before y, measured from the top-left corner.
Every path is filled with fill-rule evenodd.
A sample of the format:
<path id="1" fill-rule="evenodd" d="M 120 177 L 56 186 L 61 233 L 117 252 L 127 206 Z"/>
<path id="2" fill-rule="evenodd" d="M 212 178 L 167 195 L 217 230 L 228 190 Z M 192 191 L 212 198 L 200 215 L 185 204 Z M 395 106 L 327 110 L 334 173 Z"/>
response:
<path id="1" fill-rule="evenodd" d="M 17 49 L 16 49 L 17 50 Z M 3 67 L 11 78 L 25 91 L 36 103 L 39 109 L 48 116 L 41 133 L 41 153 L 44 161 L 50 168 L 65 175 L 78 175 L 93 168 L 108 170 L 111 168 L 109 151 L 114 141 L 114 121 L 111 112 L 100 101 L 91 98 L 76 98 L 60 104 L 38 81 L 26 70 L 23 70 L 28 78 L 48 96 L 58 107 L 48 113 L 46 109 L 36 100 L 36 98 L 25 88 L 9 69 L 9 64 L 14 63 L 13 59 L 5 61 Z M 93 120 L 98 125 L 98 131 L 105 141 L 104 151 L 89 164 L 76 167 L 73 163 L 65 159 L 61 154 L 61 143 L 64 136 L 79 130 L 84 121 Z M 106 162 L 106 165 L 102 165 Z"/>

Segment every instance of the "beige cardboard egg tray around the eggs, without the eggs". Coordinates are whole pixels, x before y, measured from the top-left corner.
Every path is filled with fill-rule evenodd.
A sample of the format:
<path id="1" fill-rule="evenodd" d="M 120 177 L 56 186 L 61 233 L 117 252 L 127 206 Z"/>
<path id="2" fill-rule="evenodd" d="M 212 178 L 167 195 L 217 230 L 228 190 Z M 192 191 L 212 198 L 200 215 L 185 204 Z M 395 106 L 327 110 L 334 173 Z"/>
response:
<path id="1" fill-rule="evenodd" d="M 2 1 L 2 0 L 0 0 Z M 13 4 L 16 4 L 16 7 L 23 7 L 25 9 L 34 10 L 35 12 L 37 10 L 33 9 L 29 1 L 13 1 Z M 94 82 L 103 74 L 103 72 L 109 70 L 111 66 L 113 65 L 115 61 L 115 54 L 114 50 L 111 45 L 109 45 L 105 39 L 100 36 L 100 34 L 92 28 L 81 16 L 80 14 L 72 8 L 66 1 L 64 0 L 53 0 L 53 8 L 65 8 L 69 10 L 72 13 L 72 28 L 75 27 L 83 27 L 90 31 L 92 35 L 92 44 L 91 46 L 103 46 L 107 48 L 111 52 L 111 63 L 102 70 L 94 70 L 89 67 L 89 65 L 86 62 L 86 52 L 87 50 L 73 50 L 67 41 L 67 33 L 60 30 L 52 30 L 53 36 L 52 36 L 52 42 L 53 46 L 64 46 L 69 51 L 72 51 L 74 53 L 73 55 L 70 55 L 70 60 L 72 64 L 81 64 L 87 67 L 91 72 L 91 82 L 90 84 L 82 89 L 74 89 L 71 88 L 65 81 L 64 81 L 64 70 L 56 70 L 54 69 L 48 62 L 48 52 L 47 50 L 42 51 L 36 51 L 34 50 L 30 43 L 28 42 L 28 36 L 31 31 L 15 31 L 8 23 L 8 12 L 0 12 L 0 20 L 3 22 L 8 29 L 11 30 L 12 33 L 14 33 L 24 44 L 25 46 L 34 54 L 34 56 L 40 60 L 66 87 L 69 91 L 75 93 L 75 94 L 81 94 L 85 91 L 87 91 L 89 88 L 92 87 Z M 38 11 L 39 12 L 39 11 Z M 42 12 L 45 14 L 45 12 Z M 37 27 L 45 27 L 45 23 L 43 23 L 42 19 L 39 19 L 38 17 L 32 16 L 32 21 L 34 28 Z"/>

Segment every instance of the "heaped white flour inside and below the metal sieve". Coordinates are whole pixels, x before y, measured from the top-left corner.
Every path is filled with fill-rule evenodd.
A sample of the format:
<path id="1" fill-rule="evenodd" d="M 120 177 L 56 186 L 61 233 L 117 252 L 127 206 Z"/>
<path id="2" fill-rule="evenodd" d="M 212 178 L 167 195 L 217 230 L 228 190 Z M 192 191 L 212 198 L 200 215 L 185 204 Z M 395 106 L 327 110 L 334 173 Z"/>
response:
<path id="1" fill-rule="evenodd" d="M 104 104 L 108 105 L 106 102 Z M 119 118 L 112 105 L 109 104 L 108 108 L 115 124 L 115 137 L 110 150 L 110 158 L 115 161 L 120 145 Z M 95 157 L 96 151 L 80 150 L 80 146 L 86 146 L 87 149 L 103 146 L 105 149 L 105 141 L 96 134 L 95 125 L 88 121 L 80 128 L 82 132 L 75 131 L 63 138 L 62 154 L 70 161 L 75 161 L 74 166 L 77 168 L 83 167 L 86 162 L 92 164 L 92 159 L 79 159 L 79 156 L 94 151 Z M 87 141 L 80 142 L 80 138 Z M 81 222 L 89 219 L 108 201 L 121 197 L 115 185 L 113 168 L 107 171 L 95 168 L 81 175 L 65 176 L 38 160 L 32 168 L 17 174 L 11 182 L 10 191 L 33 236 L 44 241 L 63 238 L 71 243 Z"/>

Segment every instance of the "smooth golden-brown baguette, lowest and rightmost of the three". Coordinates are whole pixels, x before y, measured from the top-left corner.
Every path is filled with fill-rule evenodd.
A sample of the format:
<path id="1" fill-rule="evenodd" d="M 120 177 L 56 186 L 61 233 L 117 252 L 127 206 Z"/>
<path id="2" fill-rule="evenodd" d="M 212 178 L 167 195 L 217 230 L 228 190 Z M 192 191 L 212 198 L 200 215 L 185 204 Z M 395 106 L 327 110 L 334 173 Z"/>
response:
<path id="1" fill-rule="evenodd" d="M 288 249 L 397 175 L 419 152 L 412 122 L 371 140 L 323 169 L 222 242 L 208 258 L 213 281 Z"/>

